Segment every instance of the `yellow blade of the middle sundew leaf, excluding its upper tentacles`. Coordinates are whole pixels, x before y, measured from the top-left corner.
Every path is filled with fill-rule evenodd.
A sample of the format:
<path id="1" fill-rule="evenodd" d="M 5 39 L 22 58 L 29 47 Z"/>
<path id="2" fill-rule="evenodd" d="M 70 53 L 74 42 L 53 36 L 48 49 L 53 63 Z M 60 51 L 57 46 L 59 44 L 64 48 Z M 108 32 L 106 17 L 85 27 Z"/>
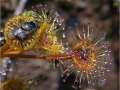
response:
<path id="1" fill-rule="evenodd" d="M 36 45 L 36 48 L 45 49 L 53 53 L 62 53 L 60 51 L 62 45 L 60 45 L 60 43 L 58 42 L 54 30 L 49 30 L 50 28 L 51 24 L 48 24 L 47 22 L 44 22 L 41 25 L 40 28 L 41 34 L 39 37 L 39 41 Z"/>

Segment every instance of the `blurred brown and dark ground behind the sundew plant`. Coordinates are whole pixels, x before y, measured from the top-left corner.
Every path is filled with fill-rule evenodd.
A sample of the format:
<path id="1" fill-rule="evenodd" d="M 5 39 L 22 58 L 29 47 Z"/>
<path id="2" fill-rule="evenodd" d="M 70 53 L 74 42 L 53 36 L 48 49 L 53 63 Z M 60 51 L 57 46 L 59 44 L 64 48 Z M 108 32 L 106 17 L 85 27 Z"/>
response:
<path id="1" fill-rule="evenodd" d="M 110 66 L 111 71 L 107 72 L 106 82 L 97 84 L 92 90 L 118 90 L 119 0 L 0 0 L 0 30 L 4 28 L 9 18 L 20 14 L 24 9 L 30 9 L 32 6 L 38 4 L 47 4 L 48 7 L 55 7 L 55 10 L 64 19 L 66 33 L 68 32 L 68 27 L 72 27 L 74 31 L 75 23 L 78 23 L 79 27 L 82 27 L 83 23 L 87 24 L 89 22 L 91 26 L 94 25 L 97 27 L 101 25 L 101 29 L 97 30 L 96 34 L 99 35 L 103 31 L 107 33 L 106 42 L 112 50 L 111 56 L 113 57 L 113 62 Z M 3 34 L 1 31 L 1 44 L 5 43 L 2 38 Z M 5 81 L 6 78 L 25 75 L 29 79 L 39 79 L 35 90 L 74 90 L 71 85 L 73 84 L 75 75 L 70 75 L 67 78 L 67 82 L 63 82 L 59 71 L 53 71 L 48 61 L 4 58 L 0 64 L 1 76 L 5 76 L 4 78 L 0 77 L 1 81 Z M 8 73 L 8 71 L 11 73 Z M 27 75 L 26 73 L 30 74 Z M 83 90 L 89 90 L 87 85 L 84 86 Z"/>

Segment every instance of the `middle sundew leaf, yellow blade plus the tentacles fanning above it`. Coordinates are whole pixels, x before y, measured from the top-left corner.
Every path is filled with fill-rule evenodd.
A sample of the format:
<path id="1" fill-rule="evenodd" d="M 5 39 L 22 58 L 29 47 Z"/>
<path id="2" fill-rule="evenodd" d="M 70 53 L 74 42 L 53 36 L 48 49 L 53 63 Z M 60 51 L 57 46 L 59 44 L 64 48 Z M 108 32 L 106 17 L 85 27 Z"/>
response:
<path id="1" fill-rule="evenodd" d="M 62 19 L 53 9 L 47 10 L 46 6 L 37 6 L 34 9 L 39 23 L 40 31 L 35 49 L 44 49 L 51 53 L 63 53 L 63 47 L 58 42 L 56 30 L 62 30 Z"/>

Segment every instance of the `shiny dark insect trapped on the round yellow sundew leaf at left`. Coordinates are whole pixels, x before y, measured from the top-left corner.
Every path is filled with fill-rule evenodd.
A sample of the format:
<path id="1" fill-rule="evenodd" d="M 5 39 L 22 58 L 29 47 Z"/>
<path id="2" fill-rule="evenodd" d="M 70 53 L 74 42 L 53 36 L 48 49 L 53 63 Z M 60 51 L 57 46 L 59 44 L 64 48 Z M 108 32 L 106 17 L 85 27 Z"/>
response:
<path id="1" fill-rule="evenodd" d="M 8 32 L 8 38 L 14 39 L 17 37 L 19 40 L 25 40 L 25 38 L 34 34 L 38 29 L 38 26 L 34 22 L 25 22 L 22 23 L 19 27 L 16 27 Z"/>

